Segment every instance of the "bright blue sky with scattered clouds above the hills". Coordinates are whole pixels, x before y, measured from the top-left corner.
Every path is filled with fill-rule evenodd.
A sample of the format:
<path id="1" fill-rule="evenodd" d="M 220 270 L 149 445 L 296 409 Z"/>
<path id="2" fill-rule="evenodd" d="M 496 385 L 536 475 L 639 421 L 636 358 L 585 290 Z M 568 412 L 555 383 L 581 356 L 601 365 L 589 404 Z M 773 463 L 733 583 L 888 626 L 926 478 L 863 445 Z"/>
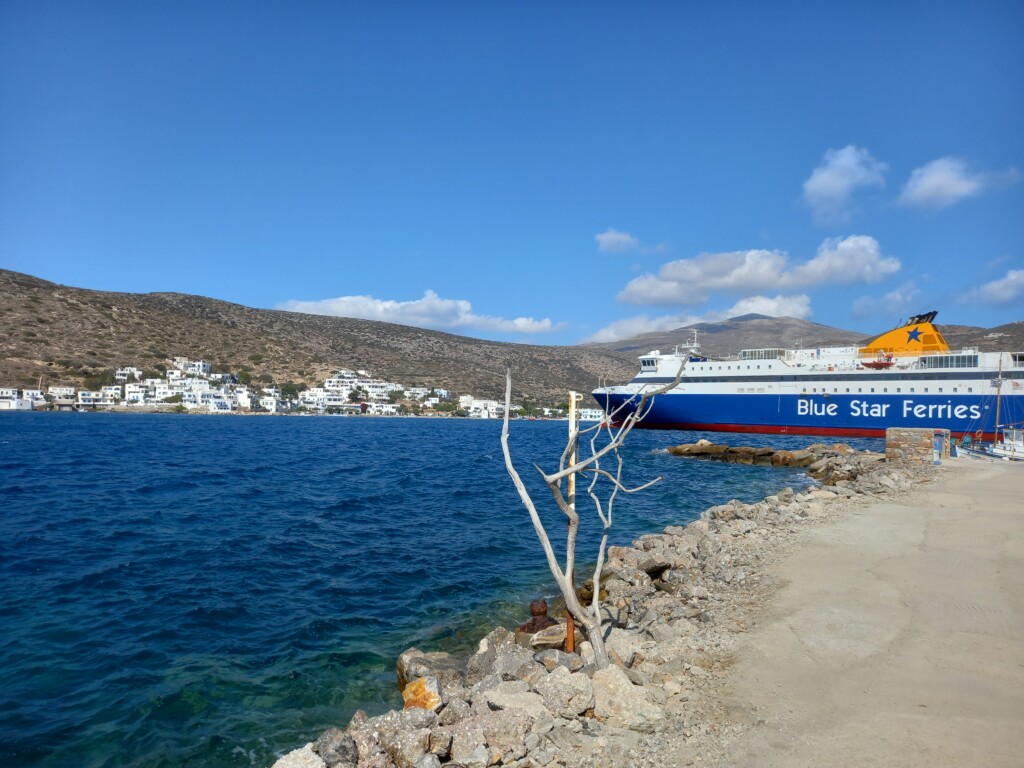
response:
<path id="1" fill-rule="evenodd" d="M 0 0 L 0 266 L 540 344 L 1024 321 L 1024 4 Z"/>

